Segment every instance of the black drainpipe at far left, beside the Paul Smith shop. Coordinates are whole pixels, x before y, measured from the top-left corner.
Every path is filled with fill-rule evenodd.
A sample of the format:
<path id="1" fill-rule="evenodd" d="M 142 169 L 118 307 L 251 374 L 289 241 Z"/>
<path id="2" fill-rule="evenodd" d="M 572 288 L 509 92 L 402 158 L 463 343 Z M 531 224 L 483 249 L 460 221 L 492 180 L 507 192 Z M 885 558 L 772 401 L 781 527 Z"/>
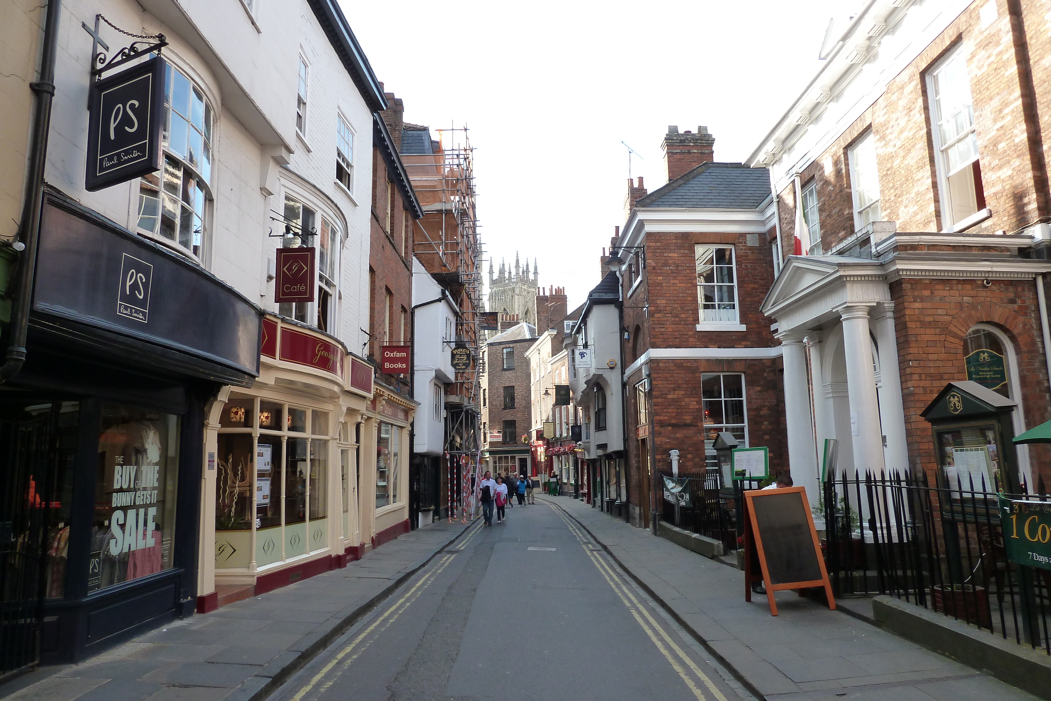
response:
<path id="1" fill-rule="evenodd" d="M 19 241 L 24 246 L 16 264 L 14 289 L 11 296 L 15 304 L 11 316 L 11 336 L 0 366 L 0 384 L 14 377 L 25 363 L 25 338 L 29 330 L 29 303 L 33 300 L 33 277 L 37 268 L 37 250 L 40 244 L 40 217 L 44 199 L 44 168 L 47 165 L 47 135 L 51 128 L 51 100 L 55 97 L 55 56 L 58 48 L 59 19 L 62 1 L 48 0 L 44 39 L 41 45 L 40 80 L 29 83 L 37 96 L 37 110 L 33 118 L 33 145 L 29 151 L 29 174 L 25 181 L 25 205 L 18 225 Z"/>

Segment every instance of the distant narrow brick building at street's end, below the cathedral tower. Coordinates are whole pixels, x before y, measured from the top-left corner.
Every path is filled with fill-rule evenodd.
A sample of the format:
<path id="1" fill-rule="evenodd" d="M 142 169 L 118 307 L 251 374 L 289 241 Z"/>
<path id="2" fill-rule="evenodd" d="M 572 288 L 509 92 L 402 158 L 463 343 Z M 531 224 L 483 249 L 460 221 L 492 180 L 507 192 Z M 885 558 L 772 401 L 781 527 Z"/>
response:
<path id="1" fill-rule="evenodd" d="M 532 474 L 530 459 L 530 364 L 526 351 L 536 327 L 526 322 L 500 331 L 485 346 L 481 421 L 488 438 L 485 469 L 494 474 Z"/>

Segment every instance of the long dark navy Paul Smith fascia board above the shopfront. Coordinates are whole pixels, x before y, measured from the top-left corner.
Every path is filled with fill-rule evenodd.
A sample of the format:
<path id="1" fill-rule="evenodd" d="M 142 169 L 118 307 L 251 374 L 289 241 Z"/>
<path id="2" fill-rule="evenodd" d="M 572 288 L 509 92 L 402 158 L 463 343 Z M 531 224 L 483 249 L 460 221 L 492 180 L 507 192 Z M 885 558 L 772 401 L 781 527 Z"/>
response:
<path id="1" fill-rule="evenodd" d="M 262 312 L 200 266 L 59 195 L 48 195 L 40 229 L 35 314 L 106 348 L 118 334 L 129 362 L 170 364 L 176 352 L 226 384 L 259 375 Z"/>

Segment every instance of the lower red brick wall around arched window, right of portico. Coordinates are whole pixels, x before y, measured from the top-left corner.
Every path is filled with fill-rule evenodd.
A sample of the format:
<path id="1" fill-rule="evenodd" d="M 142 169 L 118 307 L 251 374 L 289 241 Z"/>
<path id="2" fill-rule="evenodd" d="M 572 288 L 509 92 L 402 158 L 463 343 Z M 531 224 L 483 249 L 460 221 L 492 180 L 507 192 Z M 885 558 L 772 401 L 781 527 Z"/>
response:
<path id="1" fill-rule="evenodd" d="M 909 460 L 936 469 L 930 424 L 920 416 L 947 383 L 967 379 L 964 336 L 980 323 L 1011 339 L 1018 364 L 1026 426 L 1051 418 L 1047 365 L 1040 338 L 1036 288 L 1032 281 L 903 279 L 890 287 L 894 300 L 902 399 Z M 1047 290 L 1046 290 L 1047 292 Z M 1034 474 L 1051 478 L 1051 450 L 1030 446 Z"/>

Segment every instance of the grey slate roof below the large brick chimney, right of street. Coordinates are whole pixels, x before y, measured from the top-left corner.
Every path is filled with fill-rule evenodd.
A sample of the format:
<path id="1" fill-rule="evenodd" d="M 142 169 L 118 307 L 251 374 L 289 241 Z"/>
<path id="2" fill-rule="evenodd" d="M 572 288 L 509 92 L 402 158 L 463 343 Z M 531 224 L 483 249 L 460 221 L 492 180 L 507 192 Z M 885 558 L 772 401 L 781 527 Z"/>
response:
<path id="1" fill-rule="evenodd" d="M 756 209 L 770 197 L 766 168 L 743 163 L 702 163 L 639 200 L 642 207 Z"/>

